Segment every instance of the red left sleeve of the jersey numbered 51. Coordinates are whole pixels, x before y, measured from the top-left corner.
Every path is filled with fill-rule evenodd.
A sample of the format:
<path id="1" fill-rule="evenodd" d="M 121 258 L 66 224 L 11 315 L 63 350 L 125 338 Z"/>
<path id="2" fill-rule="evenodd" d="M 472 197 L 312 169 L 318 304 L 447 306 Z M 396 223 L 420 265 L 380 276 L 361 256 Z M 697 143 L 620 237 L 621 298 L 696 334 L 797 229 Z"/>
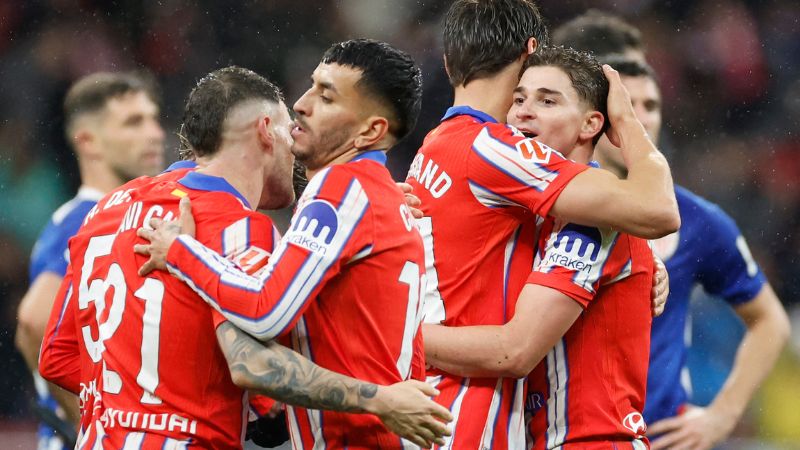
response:
<path id="1" fill-rule="evenodd" d="M 72 268 L 58 289 L 39 351 L 39 374 L 58 386 L 80 392 L 81 358 L 76 325 L 76 299 L 72 290 Z"/>

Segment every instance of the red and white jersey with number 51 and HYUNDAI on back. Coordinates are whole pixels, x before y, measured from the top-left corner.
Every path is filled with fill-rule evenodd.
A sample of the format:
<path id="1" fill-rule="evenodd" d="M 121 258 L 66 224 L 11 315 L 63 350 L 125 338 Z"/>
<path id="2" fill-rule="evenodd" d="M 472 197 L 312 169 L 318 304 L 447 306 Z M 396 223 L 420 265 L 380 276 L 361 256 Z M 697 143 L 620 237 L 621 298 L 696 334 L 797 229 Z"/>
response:
<path id="1" fill-rule="evenodd" d="M 136 230 L 151 217 L 174 217 L 184 196 L 197 239 L 245 269 L 265 266 L 273 249 L 272 222 L 222 178 L 157 177 L 98 203 L 70 242 L 74 294 L 52 333 L 55 342 L 67 339 L 61 330 L 71 317 L 91 372 L 80 380 L 82 397 L 96 394 L 85 404 L 92 416 L 82 448 L 242 445 L 247 397 L 231 381 L 214 333 L 224 318 L 165 272 L 137 275 L 146 258 L 133 253 L 143 242 Z"/>

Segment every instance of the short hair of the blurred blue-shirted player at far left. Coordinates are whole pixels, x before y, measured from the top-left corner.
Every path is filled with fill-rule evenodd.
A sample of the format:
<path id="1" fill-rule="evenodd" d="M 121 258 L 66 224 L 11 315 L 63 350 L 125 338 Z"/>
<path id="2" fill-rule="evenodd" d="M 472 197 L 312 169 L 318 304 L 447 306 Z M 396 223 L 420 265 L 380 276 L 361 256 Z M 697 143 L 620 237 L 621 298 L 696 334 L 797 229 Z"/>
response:
<path id="1" fill-rule="evenodd" d="M 64 125 L 67 140 L 75 121 L 85 115 L 99 112 L 108 101 L 132 92 L 145 92 L 158 103 L 158 93 L 152 78 L 136 72 L 96 72 L 76 81 L 64 97 Z"/>

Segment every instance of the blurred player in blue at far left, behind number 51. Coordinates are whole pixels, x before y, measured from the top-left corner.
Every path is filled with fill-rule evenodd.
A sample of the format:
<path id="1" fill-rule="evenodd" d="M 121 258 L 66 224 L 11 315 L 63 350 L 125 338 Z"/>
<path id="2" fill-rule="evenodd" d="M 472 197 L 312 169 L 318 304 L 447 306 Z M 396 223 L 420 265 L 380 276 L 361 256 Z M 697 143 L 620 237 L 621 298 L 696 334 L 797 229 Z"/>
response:
<path id="1" fill-rule="evenodd" d="M 66 137 L 78 158 L 81 187 L 53 213 L 33 248 L 30 287 L 18 309 L 16 344 L 33 371 L 39 406 L 51 410 L 62 432 L 74 435 L 78 403 L 50 387 L 38 374 L 39 346 L 67 268 L 67 241 L 84 216 L 107 192 L 162 169 L 164 131 L 158 101 L 147 80 L 131 73 L 94 73 L 76 81 L 64 100 Z M 74 437 L 73 437 L 74 439 Z M 40 449 L 64 448 L 53 428 L 39 428 Z"/>

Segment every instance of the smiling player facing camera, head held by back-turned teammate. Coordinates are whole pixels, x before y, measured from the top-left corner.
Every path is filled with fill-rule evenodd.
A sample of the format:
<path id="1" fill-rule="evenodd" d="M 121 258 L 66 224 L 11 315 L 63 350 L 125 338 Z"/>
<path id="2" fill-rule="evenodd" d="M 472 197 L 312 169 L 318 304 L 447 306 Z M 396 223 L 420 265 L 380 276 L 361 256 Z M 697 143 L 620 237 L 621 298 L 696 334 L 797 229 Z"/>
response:
<path id="1" fill-rule="evenodd" d="M 525 63 L 508 123 L 589 164 L 607 126 L 608 90 L 588 54 L 540 48 Z M 535 269 L 523 291 L 532 300 L 501 326 L 426 325 L 429 363 L 466 377 L 530 373 L 528 448 L 645 448 L 653 274 L 647 241 L 552 217 L 535 236 Z"/>

